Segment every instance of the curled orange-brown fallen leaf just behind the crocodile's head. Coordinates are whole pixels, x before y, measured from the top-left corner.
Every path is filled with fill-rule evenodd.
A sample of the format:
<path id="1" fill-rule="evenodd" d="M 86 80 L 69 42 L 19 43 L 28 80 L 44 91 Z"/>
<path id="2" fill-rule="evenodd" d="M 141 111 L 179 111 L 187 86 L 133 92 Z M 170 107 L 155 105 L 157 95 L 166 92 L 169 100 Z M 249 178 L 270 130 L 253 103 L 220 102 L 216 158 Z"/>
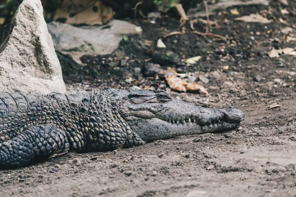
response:
<path id="1" fill-rule="evenodd" d="M 169 86 L 173 90 L 186 92 L 186 91 L 199 91 L 208 96 L 208 91 L 198 83 L 188 83 L 177 76 L 168 76 L 166 78 Z"/>

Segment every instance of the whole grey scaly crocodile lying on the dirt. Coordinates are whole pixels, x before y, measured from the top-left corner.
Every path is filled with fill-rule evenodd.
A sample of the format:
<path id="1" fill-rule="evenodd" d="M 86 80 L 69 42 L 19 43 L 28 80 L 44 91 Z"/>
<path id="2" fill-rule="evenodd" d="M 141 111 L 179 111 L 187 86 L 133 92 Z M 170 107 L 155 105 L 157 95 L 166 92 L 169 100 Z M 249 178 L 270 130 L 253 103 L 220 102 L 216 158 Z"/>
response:
<path id="1" fill-rule="evenodd" d="M 235 130 L 245 114 L 140 89 L 0 93 L 0 169 L 74 151 L 108 151 L 180 135 Z"/>

